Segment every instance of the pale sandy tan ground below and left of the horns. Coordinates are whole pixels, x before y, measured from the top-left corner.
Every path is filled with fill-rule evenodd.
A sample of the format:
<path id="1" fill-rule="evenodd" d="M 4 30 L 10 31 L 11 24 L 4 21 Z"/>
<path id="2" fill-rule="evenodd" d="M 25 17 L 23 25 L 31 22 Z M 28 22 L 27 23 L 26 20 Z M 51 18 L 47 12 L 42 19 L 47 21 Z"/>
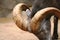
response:
<path id="1" fill-rule="evenodd" d="M 60 38 L 59 26 L 60 20 L 58 24 L 58 33 Z M 53 26 L 51 30 L 53 30 Z M 32 33 L 25 32 L 19 29 L 12 19 L 0 18 L 0 40 L 38 40 L 38 38 Z"/>

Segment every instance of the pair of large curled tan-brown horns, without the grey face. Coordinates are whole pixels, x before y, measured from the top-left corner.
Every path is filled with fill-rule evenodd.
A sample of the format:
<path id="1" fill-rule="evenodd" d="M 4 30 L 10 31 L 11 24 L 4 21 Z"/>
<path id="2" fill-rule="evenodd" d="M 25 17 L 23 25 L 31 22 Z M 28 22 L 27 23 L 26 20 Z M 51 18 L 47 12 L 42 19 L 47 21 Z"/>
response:
<path id="1" fill-rule="evenodd" d="M 54 7 L 47 7 L 39 10 L 32 18 L 28 17 L 26 13 L 22 14 L 22 11 L 26 11 L 26 9 L 29 9 L 29 7 L 24 3 L 16 5 L 13 9 L 13 19 L 16 25 L 23 30 L 36 32 L 38 28 L 40 28 L 39 24 L 41 24 L 41 21 L 47 15 L 50 15 L 49 13 L 53 13 L 52 15 L 56 15 L 60 18 L 60 10 Z"/>

